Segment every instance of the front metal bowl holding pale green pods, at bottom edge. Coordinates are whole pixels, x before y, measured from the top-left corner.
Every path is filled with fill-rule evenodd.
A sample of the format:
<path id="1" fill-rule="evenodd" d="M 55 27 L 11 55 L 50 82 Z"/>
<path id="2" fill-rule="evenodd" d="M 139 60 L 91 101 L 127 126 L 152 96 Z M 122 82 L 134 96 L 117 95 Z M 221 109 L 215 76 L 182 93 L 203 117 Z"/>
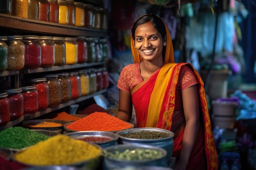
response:
<path id="1" fill-rule="evenodd" d="M 151 160 L 121 160 L 121 159 L 113 159 L 104 156 L 103 167 L 106 170 L 112 169 L 120 169 L 125 167 L 139 167 L 139 166 L 167 166 L 166 155 L 167 152 L 163 148 L 159 148 L 156 146 L 150 145 L 134 145 L 134 144 L 122 144 L 122 145 L 114 145 L 108 148 L 105 148 L 107 152 L 124 152 L 125 150 L 135 150 L 136 148 L 143 149 L 152 149 L 156 151 L 163 152 L 163 156 L 159 159 L 151 159 Z"/>

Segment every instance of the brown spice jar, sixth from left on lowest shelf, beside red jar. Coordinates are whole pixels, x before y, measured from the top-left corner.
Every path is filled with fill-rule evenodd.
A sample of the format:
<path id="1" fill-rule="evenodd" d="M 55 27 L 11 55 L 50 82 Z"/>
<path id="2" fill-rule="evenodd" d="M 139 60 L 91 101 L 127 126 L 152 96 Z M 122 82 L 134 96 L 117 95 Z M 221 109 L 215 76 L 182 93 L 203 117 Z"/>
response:
<path id="1" fill-rule="evenodd" d="M 58 75 L 61 82 L 61 103 L 71 100 L 71 81 L 68 73 Z"/>

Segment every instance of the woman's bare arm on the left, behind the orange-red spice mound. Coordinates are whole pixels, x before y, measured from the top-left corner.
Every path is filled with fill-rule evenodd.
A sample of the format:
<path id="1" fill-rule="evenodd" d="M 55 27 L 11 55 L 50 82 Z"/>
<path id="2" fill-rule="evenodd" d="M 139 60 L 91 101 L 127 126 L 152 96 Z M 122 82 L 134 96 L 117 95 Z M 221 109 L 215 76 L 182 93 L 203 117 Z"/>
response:
<path id="1" fill-rule="evenodd" d="M 119 108 L 115 117 L 123 120 L 130 121 L 132 117 L 132 95 L 131 93 L 119 89 Z"/>

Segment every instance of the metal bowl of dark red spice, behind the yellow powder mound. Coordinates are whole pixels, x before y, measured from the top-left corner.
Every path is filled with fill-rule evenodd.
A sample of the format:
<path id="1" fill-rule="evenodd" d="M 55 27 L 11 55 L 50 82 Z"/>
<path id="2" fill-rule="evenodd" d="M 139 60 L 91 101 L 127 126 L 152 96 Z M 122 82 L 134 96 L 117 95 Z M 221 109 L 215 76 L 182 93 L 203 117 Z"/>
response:
<path id="1" fill-rule="evenodd" d="M 108 131 L 79 131 L 79 132 L 71 132 L 65 134 L 68 137 L 71 137 L 73 139 L 82 139 L 85 137 L 106 137 L 109 138 L 108 141 L 102 141 L 102 142 L 92 142 L 94 144 L 98 144 L 102 148 L 107 148 L 109 146 L 117 145 L 117 140 L 119 136 L 114 132 L 108 132 Z"/>

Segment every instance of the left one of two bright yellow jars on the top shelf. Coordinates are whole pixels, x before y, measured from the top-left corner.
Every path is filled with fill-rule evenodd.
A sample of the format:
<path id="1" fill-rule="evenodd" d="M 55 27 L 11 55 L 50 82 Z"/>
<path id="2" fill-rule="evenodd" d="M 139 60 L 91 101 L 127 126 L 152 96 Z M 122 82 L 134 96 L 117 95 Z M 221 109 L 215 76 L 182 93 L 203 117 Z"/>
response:
<path id="1" fill-rule="evenodd" d="M 68 24 L 70 18 L 68 15 L 67 1 L 58 0 L 58 23 L 59 24 Z"/>

